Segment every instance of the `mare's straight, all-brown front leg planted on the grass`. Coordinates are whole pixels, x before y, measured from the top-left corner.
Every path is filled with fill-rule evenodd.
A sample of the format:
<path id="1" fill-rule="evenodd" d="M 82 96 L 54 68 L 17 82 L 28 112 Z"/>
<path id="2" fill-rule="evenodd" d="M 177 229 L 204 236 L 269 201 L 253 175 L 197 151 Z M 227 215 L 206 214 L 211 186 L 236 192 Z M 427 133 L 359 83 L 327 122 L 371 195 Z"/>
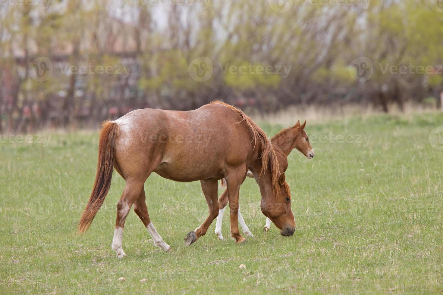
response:
<path id="1" fill-rule="evenodd" d="M 243 243 L 243 238 L 238 230 L 238 194 L 240 186 L 245 180 L 245 169 L 242 167 L 229 172 L 227 179 L 228 185 L 228 198 L 229 198 L 229 211 L 231 215 L 231 238 L 235 240 L 237 244 Z"/>

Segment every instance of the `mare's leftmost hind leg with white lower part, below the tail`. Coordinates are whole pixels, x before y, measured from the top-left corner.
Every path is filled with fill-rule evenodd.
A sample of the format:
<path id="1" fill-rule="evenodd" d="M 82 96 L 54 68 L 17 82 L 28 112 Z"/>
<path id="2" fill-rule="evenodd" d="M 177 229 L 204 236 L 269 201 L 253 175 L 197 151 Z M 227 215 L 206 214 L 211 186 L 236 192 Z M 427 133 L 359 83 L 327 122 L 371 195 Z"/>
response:
<path id="1" fill-rule="evenodd" d="M 118 258 L 126 256 L 122 249 L 123 244 L 123 228 L 126 216 L 131 210 L 132 204 L 140 195 L 144 181 L 127 179 L 124 187 L 123 195 L 117 203 L 117 220 L 115 222 L 114 238 L 112 241 L 112 249 L 117 253 Z"/>

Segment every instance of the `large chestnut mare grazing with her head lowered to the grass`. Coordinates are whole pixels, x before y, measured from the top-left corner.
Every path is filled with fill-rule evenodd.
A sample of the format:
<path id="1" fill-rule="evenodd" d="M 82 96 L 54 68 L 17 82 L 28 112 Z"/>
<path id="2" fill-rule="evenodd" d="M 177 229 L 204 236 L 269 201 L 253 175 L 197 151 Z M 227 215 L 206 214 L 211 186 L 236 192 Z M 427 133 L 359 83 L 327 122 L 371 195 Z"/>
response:
<path id="1" fill-rule="evenodd" d="M 261 192 L 261 210 L 272 218 L 281 234 L 295 230 L 291 194 L 280 173 L 277 155 L 259 126 L 241 110 L 218 101 L 194 111 L 142 109 L 103 124 L 98 147 L 97 175 L 89 202 L 78 224 L 84 232 L 93 221 L 109 191 L 113 168 L 126 180 L 117 204 L 112 249 L 122 249 L 123 227 L 132 205 L 152 236 L 154 245 L 171 247 L 155 230 L 145 203 L 144 182 L 155 172 L 175 181 L 200 180 L 209 216 L 185 237 L 190 245 L 206 234 L 218 216 L 218 180 L 226 180 L 231 212 L 231 237 L 245 241 L 238 230 L 237 211 L 240 185 L 248 169 Z"/>

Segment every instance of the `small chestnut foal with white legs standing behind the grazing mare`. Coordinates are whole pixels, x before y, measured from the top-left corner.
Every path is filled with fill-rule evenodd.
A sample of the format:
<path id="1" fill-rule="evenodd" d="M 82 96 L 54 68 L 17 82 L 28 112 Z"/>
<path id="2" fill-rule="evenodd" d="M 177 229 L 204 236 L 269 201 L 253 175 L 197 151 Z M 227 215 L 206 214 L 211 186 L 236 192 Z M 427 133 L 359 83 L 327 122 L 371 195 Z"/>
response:
<path id="1" fill-rule="evenodd" d="M 281 130 L 279 133 L 277 133 L 271 138 L 272 147 L 276 152 L 280 173 L 284 173 L 286 169 L 288 169 L 288 156 L 293 149 L 298 149 L 308 159 L 312 159 L 314 157 L 314 150 L 312 149 L 311 144 L 309 143 L 309 138 L 307 137 L 307 134 L 304 131 L 305 126 L 306 126 L 306 121 L 303 123 L 303 125 L 300 125 L 300 121 L 298 121 L 294 126 Z M 254 174 L 250 170 L 248 171 L 246 176 L 254 178 Z M 221 182 L 222 186 L 224 186 L 225 180 L 221 180 Z M 225 190 L 218 199 L 220 210 L 218 211 L 217 223 L 215 226 L 215 234 L 220 240 L 223 240 L 223 235 L 221 234 L 221 221 L 223 219 L 223 213 L 228 203 L 228 199 L 229 198 L 227 190 Z M 243 233 L 245 235 L 253 237 L 253 234 L 251 234 L 248 226 L 245 223 L 245 220 L 241 216 L 240 208 L 238 208 L 237 214 Z M 271 219 L 267 217 L 266 225 L 263 228 L 264 232 L 267 232 L 269 230 L 270 225 L 271 225 Z"/>

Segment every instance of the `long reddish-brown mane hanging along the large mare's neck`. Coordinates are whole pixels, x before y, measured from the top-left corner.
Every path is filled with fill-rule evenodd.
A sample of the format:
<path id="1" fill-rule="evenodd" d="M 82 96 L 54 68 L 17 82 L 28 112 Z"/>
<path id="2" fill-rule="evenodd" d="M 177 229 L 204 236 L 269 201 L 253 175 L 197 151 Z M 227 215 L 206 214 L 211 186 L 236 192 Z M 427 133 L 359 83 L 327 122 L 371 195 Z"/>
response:
<path id="1" fill-rule="evenodd" d="M 240 115 L 242 118 L 241 121 L 238 123 L 245 122 L 248 125 L 250 131 L 253 134 L 254 150 L 260 148 L 258 153 L 259 157 L 261 158 L 261 170 L 259 177 L 269 168 L 271 172 L 272 191 L 274 192 L 274 195 L 276 197 L 280 197 L 280 169 L 277 161 L 276 152 L 272 148 L 271 140 L 269 140 L 266 133 L 264 133 L 264 131 L 251 118 L 249 118 L 249 116 L 245 115 L 245 113 L 239 108 L 218 100 L 214 100 L 208 104 L 214 103 L 224 105 L 225 107 L 229 107 L 231 110 L 237 112 L 237 114 Z M 286 181 L 284 182 L 284 188 L 288 195 L 291 195 L 291 192 L 289 191 L 289 186 Z"/>

